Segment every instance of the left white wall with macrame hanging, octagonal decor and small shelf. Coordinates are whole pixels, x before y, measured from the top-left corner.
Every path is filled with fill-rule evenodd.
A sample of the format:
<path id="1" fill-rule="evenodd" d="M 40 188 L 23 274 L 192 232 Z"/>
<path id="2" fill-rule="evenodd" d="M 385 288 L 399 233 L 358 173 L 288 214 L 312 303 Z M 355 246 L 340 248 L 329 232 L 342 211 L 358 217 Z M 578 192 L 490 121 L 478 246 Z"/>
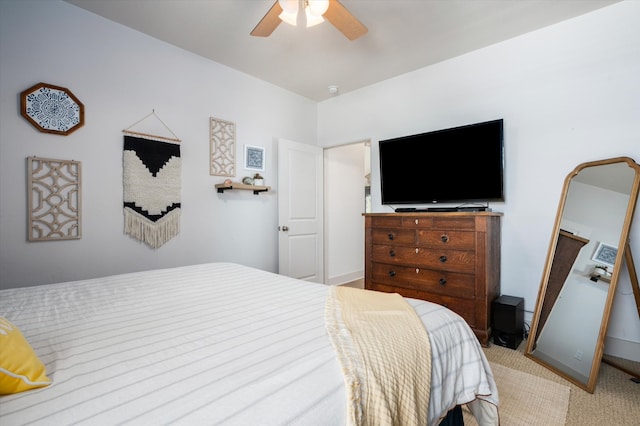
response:
<path id="1" fill-rule="evenodd" d="M 212 41 L 216 42 L 216 41 Z M 37 131 L 19 94 L 67 87 L 85 125 Z M 158 250 L 123 235 L 122 130 L 152 110 L 182 139 L 182 229 Z M 0 1 L 0 288 L 207 261 L 277 270 L 274 139 L 316 142 L 317 105 L 261 80 L 57 0 Z M 266 147 L 273 193 L 217 194 L 209 176 L 209 117 L 236 124 L 243 145 Z M 26 241 L 25 158 L 82 162 L 82 239 Z"/>

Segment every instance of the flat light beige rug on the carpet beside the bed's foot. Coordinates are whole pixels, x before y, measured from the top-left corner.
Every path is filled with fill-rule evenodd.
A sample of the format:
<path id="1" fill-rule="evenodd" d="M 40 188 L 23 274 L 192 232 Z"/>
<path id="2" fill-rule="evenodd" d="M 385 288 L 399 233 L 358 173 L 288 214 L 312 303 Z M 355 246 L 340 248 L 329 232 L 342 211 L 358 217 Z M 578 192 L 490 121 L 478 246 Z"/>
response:
<path id="1" fill-rule="evenodd" d="M 491 363 L 500 396 L 502 426 L 564 425 L 570 388 L 565 385 Z M 465 425 L 477 425 L 466 409 Z"/>

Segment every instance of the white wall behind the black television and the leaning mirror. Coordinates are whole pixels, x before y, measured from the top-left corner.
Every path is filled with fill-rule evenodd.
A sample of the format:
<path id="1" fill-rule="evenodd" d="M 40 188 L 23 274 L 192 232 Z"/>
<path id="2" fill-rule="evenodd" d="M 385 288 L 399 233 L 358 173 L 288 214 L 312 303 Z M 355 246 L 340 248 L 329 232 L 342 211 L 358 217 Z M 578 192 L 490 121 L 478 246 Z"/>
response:
<path id="1" fill-rule="evenodd" d="M 504 212 L 502 293 L 524 297 L 530 317 L 565 176 L 586 161 L 640 161 L 639 21 L 640 2 L 617 3 L 324 101 L 319 144 L 370 138 L 373 210 L 389 212 L 378 140 L 504 118 L 506 202 L 492 205 Z M 627 275 L 620 288 L 629 289 Z M 619 298 L 614 311 L 633 303 L 630 290 Z M 625 339 L 640 342 L 640 331 Z"/>

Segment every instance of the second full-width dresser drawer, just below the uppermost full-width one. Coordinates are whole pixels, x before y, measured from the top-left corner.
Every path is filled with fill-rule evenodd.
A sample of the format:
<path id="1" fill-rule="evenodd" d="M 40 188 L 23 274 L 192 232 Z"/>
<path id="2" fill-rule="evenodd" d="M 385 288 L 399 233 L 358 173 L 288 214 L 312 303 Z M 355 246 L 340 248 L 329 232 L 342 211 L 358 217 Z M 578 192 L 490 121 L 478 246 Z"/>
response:
<path id="1" fill-rule="evenodd" d="M 372 279 L 394 287 L 454 297 L 475 297 L 475 276 L 427 268 L 373 263 Z"/>

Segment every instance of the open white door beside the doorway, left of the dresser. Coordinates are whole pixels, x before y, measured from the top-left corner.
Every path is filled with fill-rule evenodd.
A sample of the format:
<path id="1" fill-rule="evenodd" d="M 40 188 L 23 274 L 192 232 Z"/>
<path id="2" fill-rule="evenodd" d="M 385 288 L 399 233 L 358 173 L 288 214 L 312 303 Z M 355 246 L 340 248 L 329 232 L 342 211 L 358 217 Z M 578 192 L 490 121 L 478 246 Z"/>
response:
<path id="1" fill-rule="evenodd" d="M 324 283 L 323 150 L 278 141 L 279 273 Z"/>

